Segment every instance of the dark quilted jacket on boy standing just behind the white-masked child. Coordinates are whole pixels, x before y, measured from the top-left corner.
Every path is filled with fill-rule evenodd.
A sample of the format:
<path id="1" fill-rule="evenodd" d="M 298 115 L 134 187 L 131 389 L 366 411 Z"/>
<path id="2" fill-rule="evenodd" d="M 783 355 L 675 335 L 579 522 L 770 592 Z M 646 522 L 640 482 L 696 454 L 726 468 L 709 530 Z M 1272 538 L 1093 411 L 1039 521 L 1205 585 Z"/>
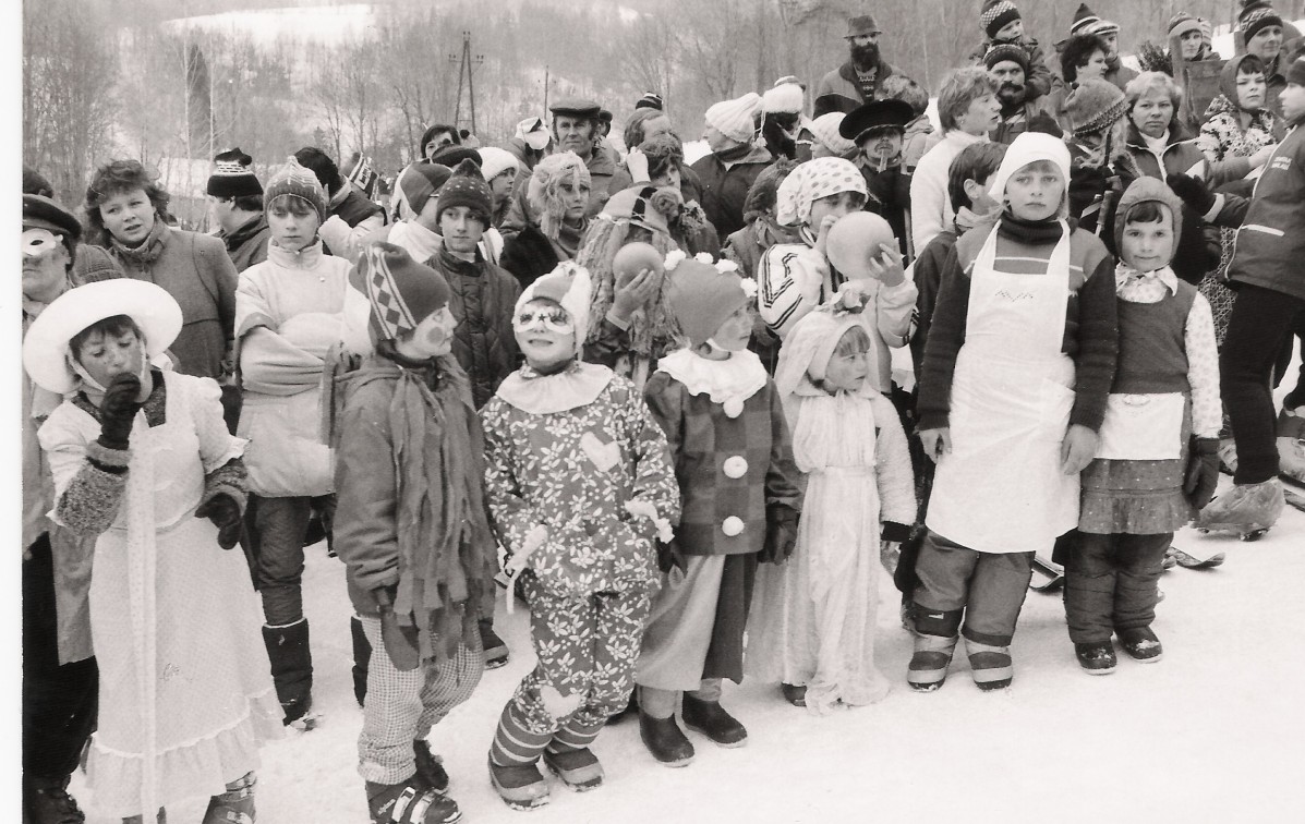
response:
<path id="1" fill-rule="evenodd" d="M 512 313 L 521 286 L 508 270 L 487 263 L 479 252 L 470 262 L 441 250 L 425 265 L 438 270 L 453 289 L 449 310 L 458 321 L 453 355 L 471 378 L 471 399 L 479 409 L 519 364 Z"/>

